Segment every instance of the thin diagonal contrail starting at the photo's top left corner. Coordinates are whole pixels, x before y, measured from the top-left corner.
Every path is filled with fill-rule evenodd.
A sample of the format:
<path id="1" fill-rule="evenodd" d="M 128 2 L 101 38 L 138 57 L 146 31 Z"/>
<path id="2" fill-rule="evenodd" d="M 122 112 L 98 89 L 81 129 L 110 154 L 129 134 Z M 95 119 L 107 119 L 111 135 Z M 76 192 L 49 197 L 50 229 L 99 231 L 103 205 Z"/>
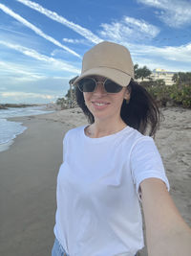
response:
<path id="1" fill-rule="evenodd" d="M 35 34 L 42 36 L 46 40 L 52 42 L 54 45 L 64 49 L 65 51 L 73 54 L 74 56 L 80 58 L 80 56 L 77 53 L 75 53 L 73 50 L 71 50 L 69 47 L 64 46 L 59 41 L 55 40 L 52 36 L 44 34 L 40 29 L 35 27 L 31 22 L 29 22 L 25 18 L 21 17 L 19 14 L 12 12 L 10 8 L 6 7 L 5 5 L 0 4 L 0 9 L 3 12 L 6 12 L 7 14 L 11 15 L 11 17 L 15 18 L 19 22 L 21 22 L 24 26 L 30 28 Z"/>

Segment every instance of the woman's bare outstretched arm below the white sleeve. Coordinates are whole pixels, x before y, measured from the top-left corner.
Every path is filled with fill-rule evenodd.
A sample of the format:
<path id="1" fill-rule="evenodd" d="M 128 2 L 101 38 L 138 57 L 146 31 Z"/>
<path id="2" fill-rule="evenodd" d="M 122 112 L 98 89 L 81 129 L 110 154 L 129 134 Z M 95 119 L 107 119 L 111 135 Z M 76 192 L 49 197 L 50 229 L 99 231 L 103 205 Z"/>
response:
<path id="1" fill-rule="evenodd" d="M 159 178 L 140 183 L 149 256 L 191 255 L 191 229 Z"/>

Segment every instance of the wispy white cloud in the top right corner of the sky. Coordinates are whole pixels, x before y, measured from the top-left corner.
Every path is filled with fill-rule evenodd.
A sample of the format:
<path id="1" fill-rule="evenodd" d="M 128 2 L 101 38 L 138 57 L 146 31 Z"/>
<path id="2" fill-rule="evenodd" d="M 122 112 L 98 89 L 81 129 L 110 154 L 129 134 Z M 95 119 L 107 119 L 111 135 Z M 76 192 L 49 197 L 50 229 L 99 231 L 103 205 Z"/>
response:
<path id="1" fill-rule="evenodd" d="M 186 0 L 137 0 L 138 3 L 161 10 L 156 12 L 166 25 L 179 28 L 191 23 L 191 2 Z"/>

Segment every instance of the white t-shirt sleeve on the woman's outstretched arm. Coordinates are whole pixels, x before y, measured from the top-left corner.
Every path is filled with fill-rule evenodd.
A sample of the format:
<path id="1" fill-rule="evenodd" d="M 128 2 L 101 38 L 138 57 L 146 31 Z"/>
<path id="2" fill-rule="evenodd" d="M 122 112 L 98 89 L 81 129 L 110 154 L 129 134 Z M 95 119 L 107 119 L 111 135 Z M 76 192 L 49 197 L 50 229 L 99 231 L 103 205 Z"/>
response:
<path id="1" fill-rule="evenodd" d="M 130 161 L 138 198 L 141 199 L 139 185 L 145 178 L 159 178 L 166 184 L 168 191 L 170 190 L 159 151 L 151 137 L 145 136 L 135 143 L 131 151 Z"/>

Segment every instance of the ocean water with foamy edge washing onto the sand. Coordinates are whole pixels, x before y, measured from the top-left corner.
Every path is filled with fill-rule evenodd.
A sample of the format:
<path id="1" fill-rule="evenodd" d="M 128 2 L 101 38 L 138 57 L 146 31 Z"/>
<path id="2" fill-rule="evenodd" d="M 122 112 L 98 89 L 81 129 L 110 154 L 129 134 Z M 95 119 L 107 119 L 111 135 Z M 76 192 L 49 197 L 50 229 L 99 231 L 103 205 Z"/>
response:
<path id="1" fill-rule="evenodd" d="M 53 112 L 46 110 L 45 107 L 46 106 L 29 106 L 0 109 L 0 151 L 8 150 L 13 143 L 13 139 L 27 129 L 22 123 L 9 121 L 7 120 L 8 118 Z"/>

